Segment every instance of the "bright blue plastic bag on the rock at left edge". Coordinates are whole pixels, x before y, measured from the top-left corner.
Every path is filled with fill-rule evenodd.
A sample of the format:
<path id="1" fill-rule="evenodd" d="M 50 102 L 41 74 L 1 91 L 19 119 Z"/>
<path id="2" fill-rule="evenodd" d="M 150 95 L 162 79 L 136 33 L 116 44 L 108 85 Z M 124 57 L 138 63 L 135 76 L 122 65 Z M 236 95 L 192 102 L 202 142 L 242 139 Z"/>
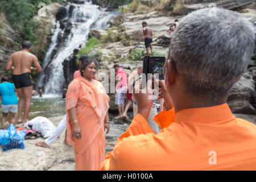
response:
<path id="1" fill-rule="evenodd" d="M 24 137 L 26 137 L 26 131 L 16 131 L 13 124 L 10 124 L 9 128 L 5 130 L 0 130 L 0 144 L 3 147 L 3 151 L 7 151 L 11 148 L 24 149 Z"/>

